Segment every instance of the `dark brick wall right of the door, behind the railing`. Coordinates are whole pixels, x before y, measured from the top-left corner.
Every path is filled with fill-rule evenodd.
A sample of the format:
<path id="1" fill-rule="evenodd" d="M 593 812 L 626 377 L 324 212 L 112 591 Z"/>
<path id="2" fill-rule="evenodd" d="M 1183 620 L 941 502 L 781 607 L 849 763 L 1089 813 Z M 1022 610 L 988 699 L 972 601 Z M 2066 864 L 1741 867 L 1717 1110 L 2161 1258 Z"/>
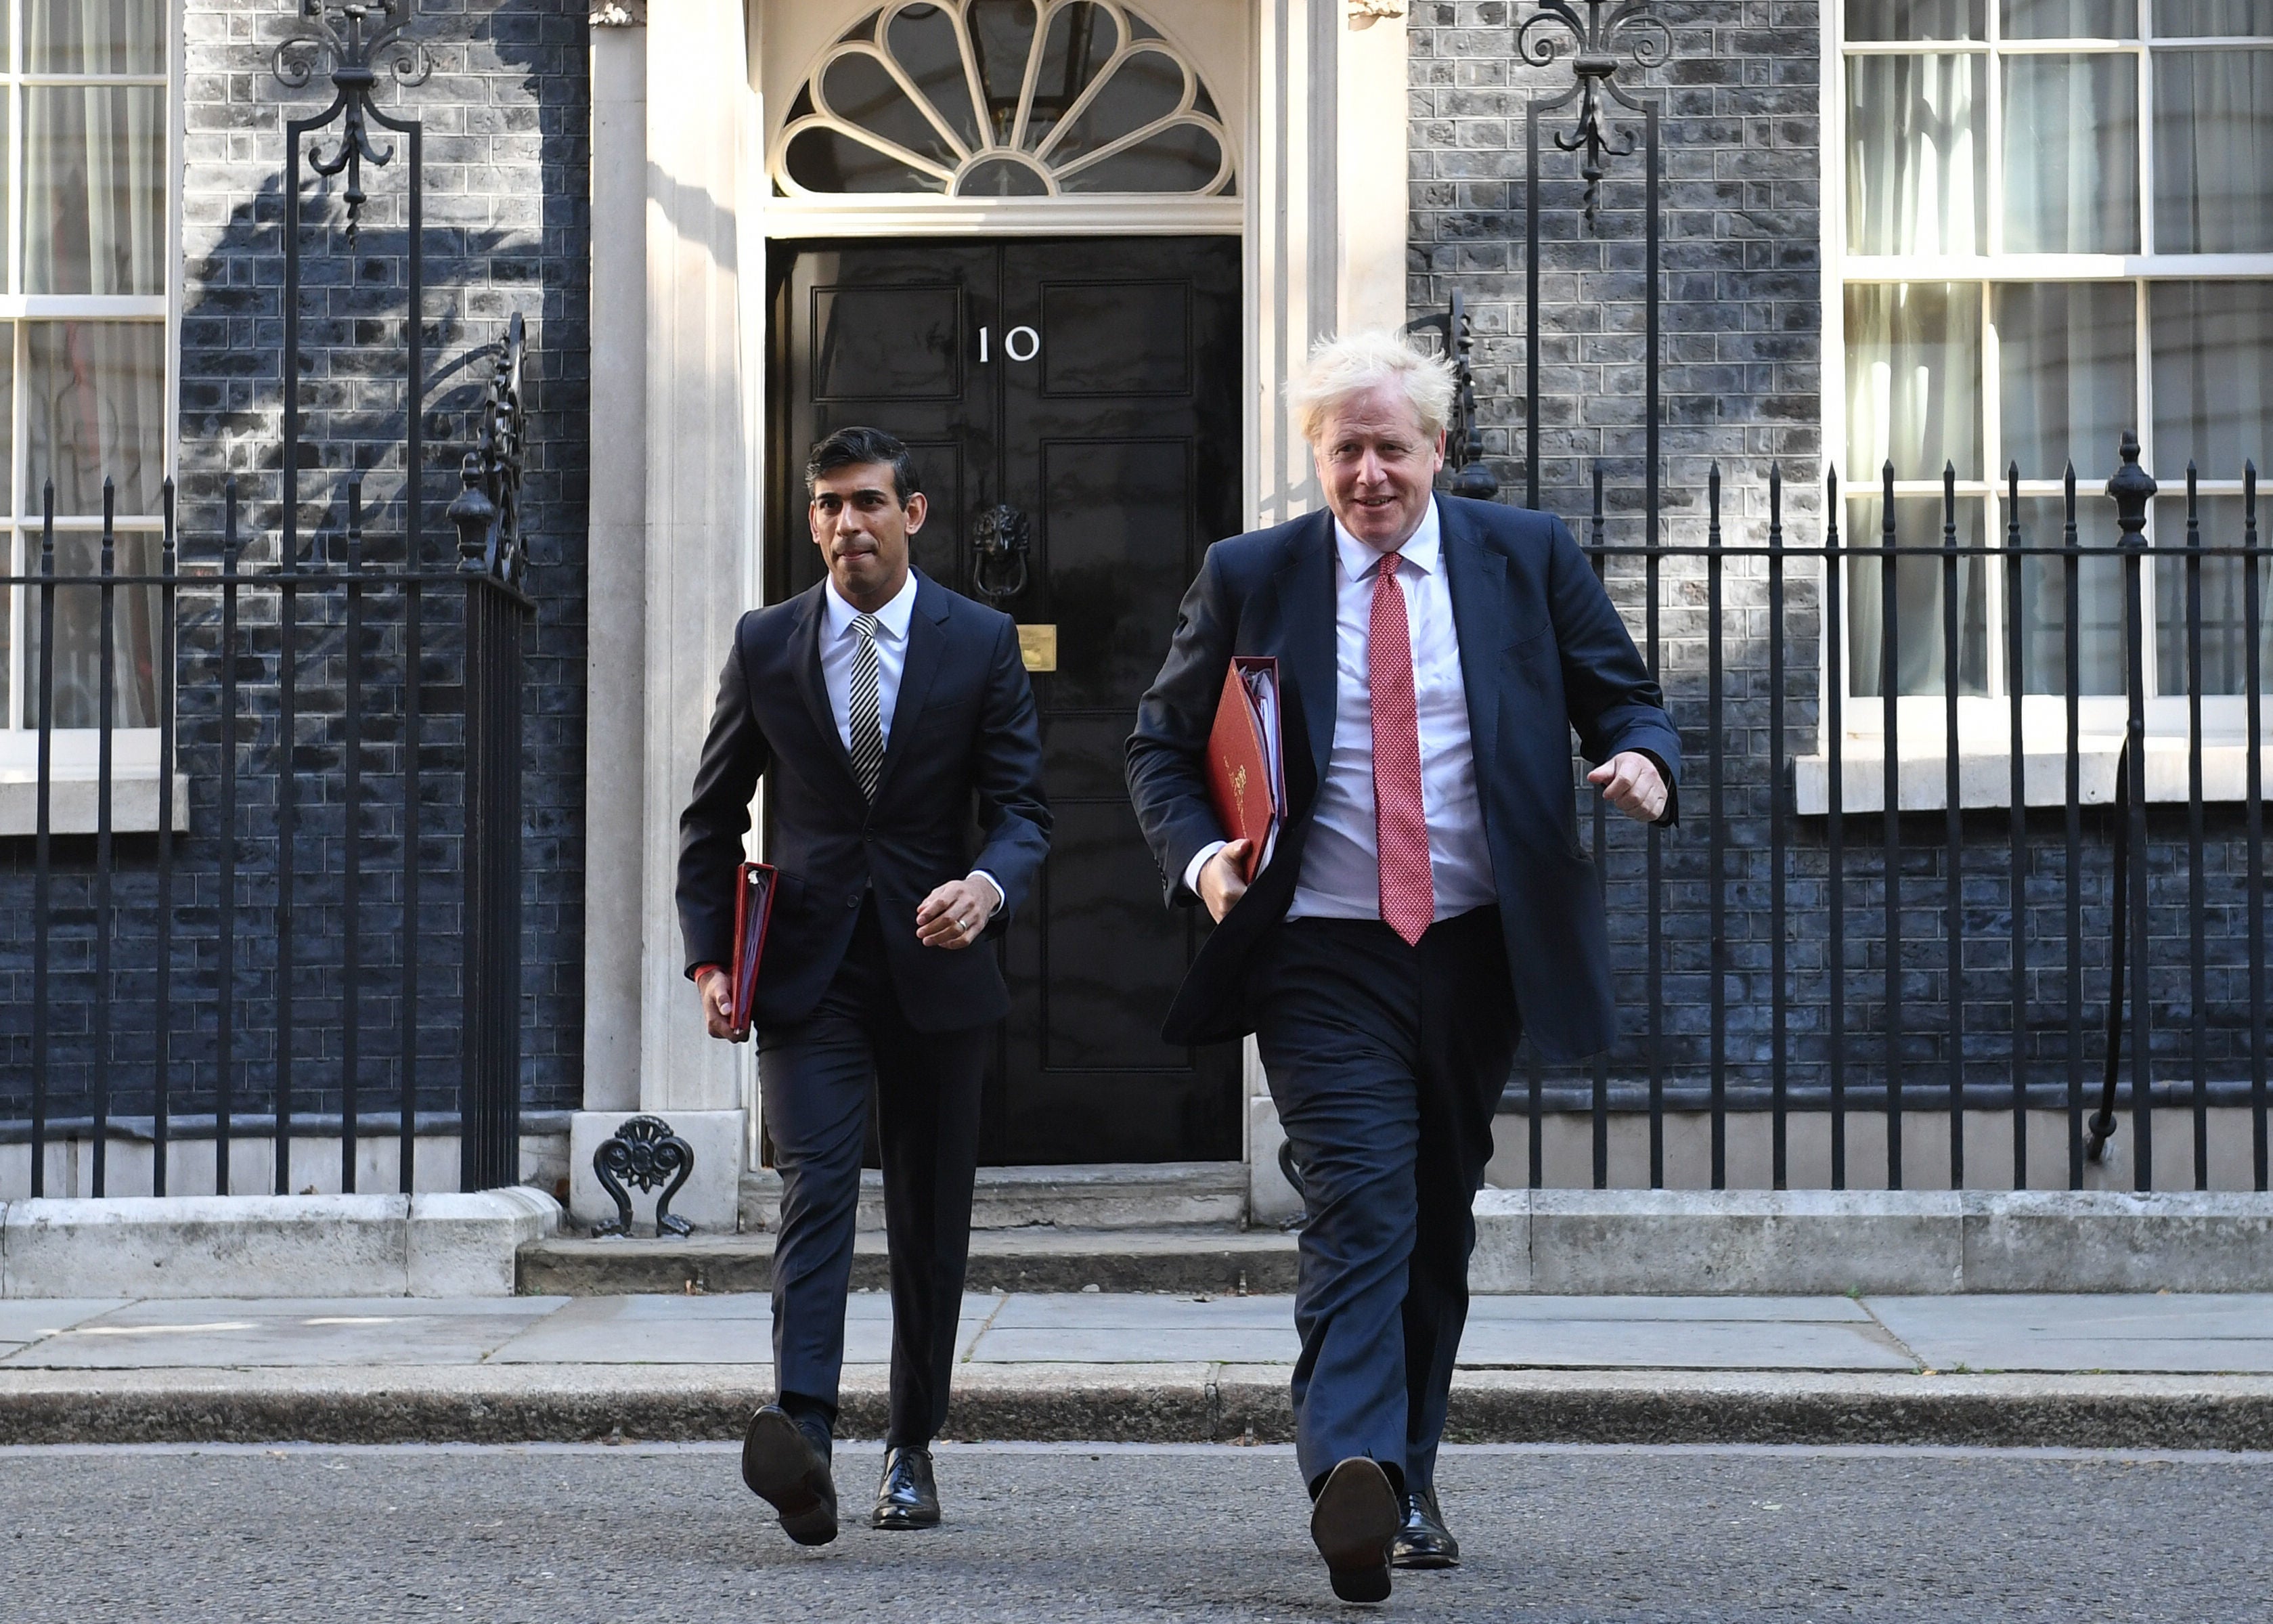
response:
<path id="1" fill-rule="evenodd" d="M 1525 105 L 1571 84 L 1568 55 L 1546 68 L 1516 57 L 1516 23 L 1534 7 L 1509 0 L 1418 0 L 1412 11 L 1412 243 L 1409 316 L 1443 312 L 1462 289 L 1475 328 L 1475 384 L 1487 459 L 1505 500 L 1525 491 Z M 1780 464 L 1784 539 L 1823 541 L 1821 355 L 1821 52 L 1814 0 L 1666 0 L 1664 66 L 1623 66 L 1621 82 L 1662 107 L 1662 366 L 1664 523 L 1659 541 L 1702 548 L 1709 471 L 1723 478 L 1727 546 L 1762 546 L 1768 469 Z M 1612 109 L 1623 132 L 1639 116 Z M 1552 146 L 1573 127 L 1575 102 L 1541 116 L 1541 505 L 1589 539 L 1591 475 L 1605 482 L 1602 539 L 1639 546 L 1643 521 L 1643 159 L 1612 159 L 1598 218 L 1584 218 L 1577 161 Z M 2100 509 L 2087 523 L 2107 523 Z M 1934 537 L 1905 537 L 1932 544 Z M 1662 837 L 1664 980 L 1655 1005 L 1662 1064 L 1675 1094 L 1702 1092 L 1712 1062 L 1712 844 L 1709 744 L 1721 757 L 1721 885 L 1725 951 L 1725 1058 L 1737 1099 L 1764 1099 L 1771 1078 L 1773 914 L 1771 805 L 1791 794 L 1789 767 L 1771 755 L 1768 639 L 1784 639 L 1784 757 L 1818 748 L 1821 557 L 1791 560 L 1782 614 L 1771 614 L 1762 557 L 1727 557 L 1712 596 L 1696 553 L 1662 562 L 1659 669 L 1682 726 L 1687 778 L 1682 826 Z M 1637 635 L 1646 628 L 1639 557 L 1609 557 L 1607 580 Z M 1718 644 L 1714 641 L 1718 628 Z M 1718 723 L 1709 673 L 1721 673 Z M 1959 973 L 1964 1076 L 2012 1076 L 2012 883 L 2005 812 L 1964 819 Z M 1884 1083 L 1887 955 L 1884 821 L 1846 819 L 1846 930 L 1830 942 L 1830 864 L 1823 819 L 1787 819 L 1787 1024 L 1796 1089 L 1830 1080 L 1830 992 L 1843 976 L 1846 1083 Z M 1593 839 L 1591 819 L 1580 821 Z M 2064 819 L 2028 819 L 2030 862 L 2021 905 L 2028 1005 L 2021 1053 L 2043 1103 L 2068 1078 L 2071 964 L 2066 951 Z M 1950 1053 L 1950 964 L 1941 814 L 1903 819 L 1900 976 L 1907 1087 L 1943 1089 Z M 2246 846 L 2239 814 L 2209 812 L 2205 851 L 2207 944 L 2205 1067 L 2212 1080 L 2248 1071 Z M 1607 853 L 1612 958 L 1625 1042 L 1609 1060 L 1621 1101 L 1648 1074 L 1648 930 L 1652 908 L 1646 835 L 1612 819 Z M 2150 839 L 2155 1049 L 2162 1078 L 2191 1078 L 2189 857 L 2184 812 L 2157 807 Z M 2084 814 L 2082 1024 L 2084 1076 L 2096 1087 L 2105 1053 L 2109 826 Z M 1575 1099 L 1589 1069 L 1548 1071 L 1550 1096 Z M 1518 1074 L 1521 1078 L 1521 1074 Z M 1946 1094 L 1941 1096 L 1946 1099 Z M 1987 1103 L 1987 1101 L 1984 1101 Z"/>

